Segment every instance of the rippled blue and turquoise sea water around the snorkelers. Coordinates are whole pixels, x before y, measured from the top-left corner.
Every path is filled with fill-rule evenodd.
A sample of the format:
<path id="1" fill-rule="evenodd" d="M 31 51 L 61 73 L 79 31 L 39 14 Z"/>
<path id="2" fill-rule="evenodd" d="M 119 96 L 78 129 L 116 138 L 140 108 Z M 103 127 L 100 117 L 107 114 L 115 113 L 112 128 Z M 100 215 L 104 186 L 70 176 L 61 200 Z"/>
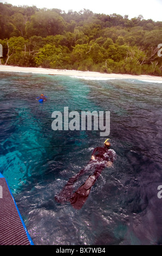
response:
<path id="1" fill-rule="evenodd" d="M 0 77 L 0 171 L 35 245 L 161 244 L 162 84 L 6 72 Z M 35 100 L 41 93 L 48 97 L 42 104 Z M 117 159 L 102 171 L 81 210 L 54 197 L 107 137 L 53 131 L 51 114 L 64 107 L 111 112 L 108 137 Z"/>

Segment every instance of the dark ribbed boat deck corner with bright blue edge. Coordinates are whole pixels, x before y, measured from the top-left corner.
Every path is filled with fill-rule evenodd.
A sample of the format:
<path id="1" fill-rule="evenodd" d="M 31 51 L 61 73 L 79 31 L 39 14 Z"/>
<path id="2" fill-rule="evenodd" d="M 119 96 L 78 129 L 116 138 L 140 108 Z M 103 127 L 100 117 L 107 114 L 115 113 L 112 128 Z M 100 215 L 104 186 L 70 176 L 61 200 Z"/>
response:
<path id="1" fill-rule="evenodd" d="M 33 245 L 8 183 L 1 173 L 0 245 Z"/>

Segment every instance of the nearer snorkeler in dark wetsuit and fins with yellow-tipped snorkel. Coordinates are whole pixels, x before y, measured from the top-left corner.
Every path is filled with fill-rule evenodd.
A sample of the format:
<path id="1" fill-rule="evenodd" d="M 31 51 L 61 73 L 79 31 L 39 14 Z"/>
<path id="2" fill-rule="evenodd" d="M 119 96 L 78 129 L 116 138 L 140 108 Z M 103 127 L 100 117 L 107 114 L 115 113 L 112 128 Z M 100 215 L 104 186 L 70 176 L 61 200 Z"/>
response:
<path id="1" fill-rule="evenodd" d="M 75 209 L 81 209 L 89 196 L 92 186 L 99 178 L 102 170 L 106 167 L 111 167 L 116 159 L 116 153 L 113 149 L 109 149 L 110 147 L 111 143 L 109 142 L 109 139 L 106 139 L 104 142 L 104 147 L 95 148 L 87 166 L 68 180 L 61 193 L 55 197 L 55 200 L 59 203 L 69 201 Z M 74 183 L 80 178 L 81 175 L 85 174 L 91 169 L 94 169 L 94 173 L 88 177 L 85 183 L 80 186 L 75 193 L 73 193 Z"/>

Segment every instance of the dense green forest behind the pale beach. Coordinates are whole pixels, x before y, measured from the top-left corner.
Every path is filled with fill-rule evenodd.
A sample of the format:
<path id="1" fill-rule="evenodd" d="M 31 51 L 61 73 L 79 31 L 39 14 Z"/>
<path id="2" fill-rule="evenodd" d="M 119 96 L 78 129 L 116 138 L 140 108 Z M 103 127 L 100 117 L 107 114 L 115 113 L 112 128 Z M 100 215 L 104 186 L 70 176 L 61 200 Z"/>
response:
<path id="1" fill-rule="evenodd" d="M 162 22 L 0 3 L 3 65 L 162 74 Z M 162 48 L 162 47 L 161 47 Z"/>

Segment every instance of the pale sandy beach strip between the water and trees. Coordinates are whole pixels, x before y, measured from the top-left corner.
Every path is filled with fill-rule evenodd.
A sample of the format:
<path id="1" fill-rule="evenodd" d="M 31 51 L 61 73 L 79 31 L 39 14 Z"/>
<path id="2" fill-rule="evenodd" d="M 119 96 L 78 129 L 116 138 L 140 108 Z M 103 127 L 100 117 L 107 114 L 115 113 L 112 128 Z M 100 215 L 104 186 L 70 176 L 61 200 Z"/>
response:
<path id="1" fill-rule="evenodd" d="M 0 65 L 0 71 L 3 72 L 23 72 L 33 74 L 46 75 L 66 75 L 76 77 L 92 77 L 92 78 L 107 78 L 107 79 L 137 79 L 141 81 L 157 81 L 162 83 L 162 76 L 148 76 L 148 75 L 127 75 L 127 74 L 102 74 L 100 72 L 78 71 L 78 70 L 64 70 L 64 69 L 43 69 L 43 68 L 26 68 L 20 66 L 5 66 Z"/>

